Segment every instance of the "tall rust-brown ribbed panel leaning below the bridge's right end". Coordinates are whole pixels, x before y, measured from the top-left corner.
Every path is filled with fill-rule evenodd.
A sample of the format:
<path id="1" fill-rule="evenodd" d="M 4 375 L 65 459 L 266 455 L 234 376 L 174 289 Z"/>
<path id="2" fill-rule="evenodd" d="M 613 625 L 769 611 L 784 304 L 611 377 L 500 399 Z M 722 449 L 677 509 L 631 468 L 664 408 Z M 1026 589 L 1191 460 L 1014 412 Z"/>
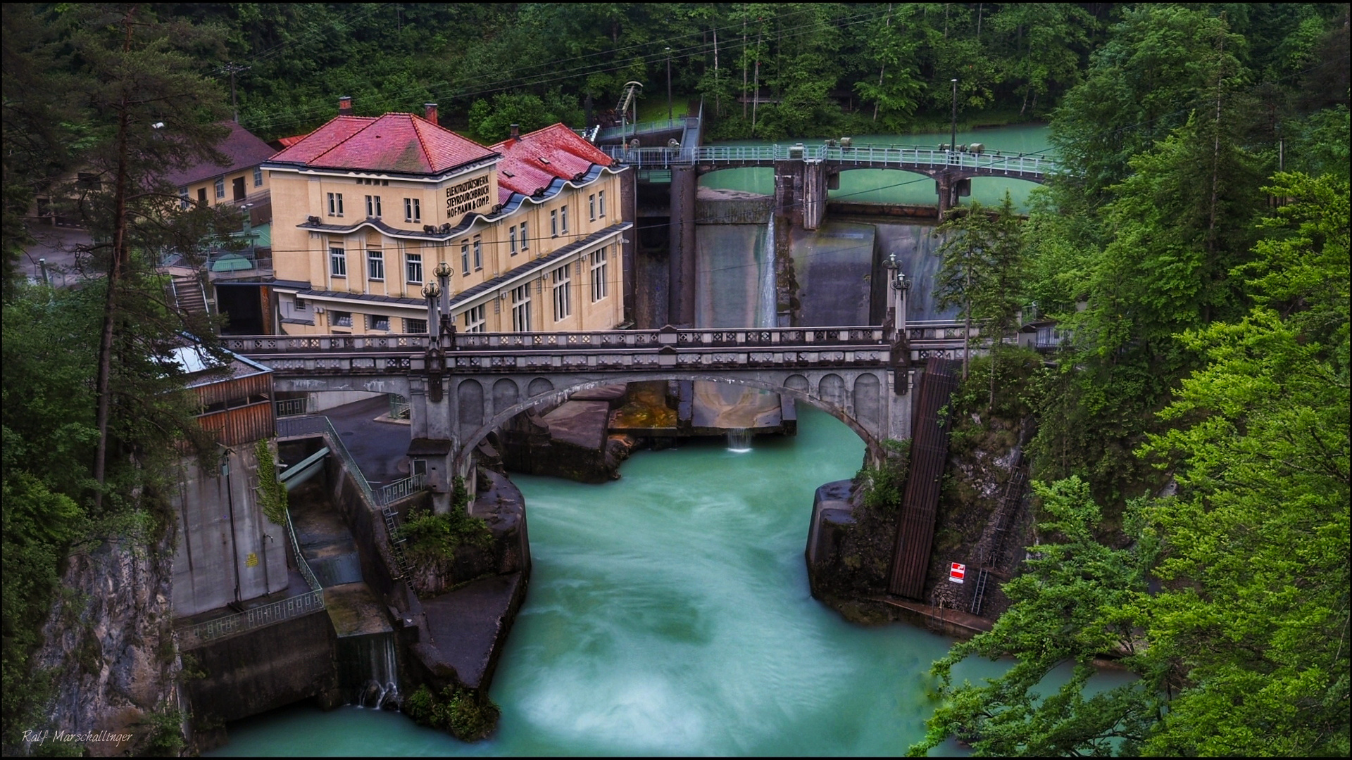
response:
<path id="1" fill-rule="evenodd" d="M 940 425 L 940 408 L 948 406 L 957 388 L 952 360 L 930 358 L 919 381 L 911 417 L 911 467 L 902 498 L 902 514 L 892 546 L 892 573 L 888 592 L 923 600 L 925 575 L 934 545 L 934 517 L 948 460 L 948 427 Z"/>

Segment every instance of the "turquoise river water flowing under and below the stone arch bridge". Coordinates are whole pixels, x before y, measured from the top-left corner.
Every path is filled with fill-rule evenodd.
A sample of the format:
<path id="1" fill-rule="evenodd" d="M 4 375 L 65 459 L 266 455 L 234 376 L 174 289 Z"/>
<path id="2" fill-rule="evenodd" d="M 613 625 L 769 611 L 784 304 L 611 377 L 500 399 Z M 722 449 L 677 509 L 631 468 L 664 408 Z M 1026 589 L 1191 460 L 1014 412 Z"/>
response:
<path id="1" fill-rule="evenodd" d="M 863 452 L 844 423 L 800 406 L 796 437 L 750 452 L 639 452 L 604 485 L 514 476 L 534 571 L 491 690 L 493 738 L 296 706 L 231 723 L 210 755 L 903 753 L 934 707 L 927 669 L 949 640 L 845 622 L 808 595 L 803 563 L 814 490 L 850 477 Z"/>

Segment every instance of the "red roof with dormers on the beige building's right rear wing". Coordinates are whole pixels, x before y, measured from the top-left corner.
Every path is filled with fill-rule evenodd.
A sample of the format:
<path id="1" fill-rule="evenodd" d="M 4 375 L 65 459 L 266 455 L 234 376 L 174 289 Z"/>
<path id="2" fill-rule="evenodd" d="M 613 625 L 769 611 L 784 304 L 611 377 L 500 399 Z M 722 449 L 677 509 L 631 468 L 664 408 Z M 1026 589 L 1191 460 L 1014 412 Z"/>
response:
<path id="1" fill-rule="evenodd" d="M 503 156 L 498 162 L 498 200 L 504 203 L 510 192 L 534 195 L 556 179 L 573 180 L 594 165 L 611 164 L 610 156 L 564 124 L 508 138 L 492 149 Z"/>

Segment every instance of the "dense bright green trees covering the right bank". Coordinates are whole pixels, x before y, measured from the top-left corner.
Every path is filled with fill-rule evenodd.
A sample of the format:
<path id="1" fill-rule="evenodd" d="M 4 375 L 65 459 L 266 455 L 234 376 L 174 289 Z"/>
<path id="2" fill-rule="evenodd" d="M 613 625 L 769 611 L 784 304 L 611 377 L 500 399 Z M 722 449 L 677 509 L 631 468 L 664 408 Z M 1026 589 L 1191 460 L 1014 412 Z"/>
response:
<path id="1" fill-rule="evenodd" d="M 950 736 L 976 755 L 1348 753 L 1348 16 L 1330 11 L 1124 9 L 1057 108 L 1067 168 L 1023 226 L 1019 293 L 1072 334 L 1032 410 L 1040 542 L 994 630 L 936 664 L 913 753 Z M 972 311 L 996 295 L 949 289 Z M 968 656 L 1017 664 L 953 683 Z M 1095 691 L 1103 656 L 1137 679 Z"/>

